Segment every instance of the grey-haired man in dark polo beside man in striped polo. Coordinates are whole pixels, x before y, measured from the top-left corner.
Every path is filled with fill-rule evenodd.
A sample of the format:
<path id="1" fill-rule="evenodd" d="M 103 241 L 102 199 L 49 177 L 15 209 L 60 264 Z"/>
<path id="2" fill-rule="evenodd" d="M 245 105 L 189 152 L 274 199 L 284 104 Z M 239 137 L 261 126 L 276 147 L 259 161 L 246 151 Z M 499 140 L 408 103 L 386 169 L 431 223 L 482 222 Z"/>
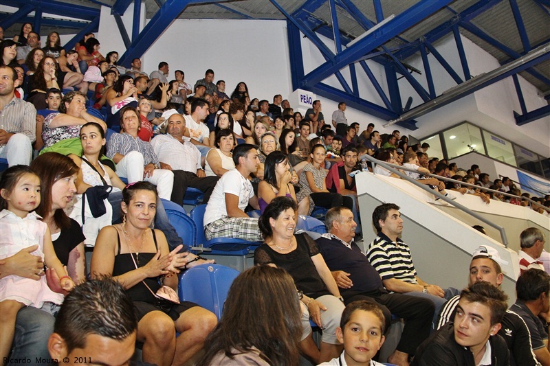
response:
<path id="1" fill-rule="evenodd" d="M 397 349 L 388 357 L 389 363 L 407 365 L 417 347 L 430 335 L 434 304 L 429 299 L 388 293 L 380 275 L 355 244 L 353 214 L 346 207 L 333 207 L 325 217 L 328 234 L 316 240 L 322 257 L 340 288 L 345 304 L 366 300 L 377 304 L 384 312 L 385 328 L 392 314 L 405 321 Z"/>

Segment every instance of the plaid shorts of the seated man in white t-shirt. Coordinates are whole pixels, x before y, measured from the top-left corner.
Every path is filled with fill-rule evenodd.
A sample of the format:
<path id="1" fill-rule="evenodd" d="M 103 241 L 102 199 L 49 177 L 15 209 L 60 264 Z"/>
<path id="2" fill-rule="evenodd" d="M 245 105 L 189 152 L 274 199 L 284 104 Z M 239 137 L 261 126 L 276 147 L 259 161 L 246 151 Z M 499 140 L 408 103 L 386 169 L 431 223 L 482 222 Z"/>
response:
<path id="1" fill-rule="evenodd" d="M 206 240 L 214 238 L 237 238 L 250 242 L 263 242 L 257 218 L 228 217 L 210 222 L 204 229 Z"/>

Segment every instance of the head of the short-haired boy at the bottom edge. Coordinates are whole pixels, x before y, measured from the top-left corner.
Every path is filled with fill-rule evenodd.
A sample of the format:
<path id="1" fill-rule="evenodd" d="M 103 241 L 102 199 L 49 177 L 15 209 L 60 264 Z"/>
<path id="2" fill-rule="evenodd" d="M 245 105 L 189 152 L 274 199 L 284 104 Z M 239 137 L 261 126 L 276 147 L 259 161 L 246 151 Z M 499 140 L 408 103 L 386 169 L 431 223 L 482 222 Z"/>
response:
<path id="1" fill-rule="evenodd" d="M 344 344 L 344 358 L 348 365 L 369 365 L 384 343 L 380 319 L 365 310 L 355 310 L 343 332 L 341 328 L 336 329 L 336 336 Z"/>

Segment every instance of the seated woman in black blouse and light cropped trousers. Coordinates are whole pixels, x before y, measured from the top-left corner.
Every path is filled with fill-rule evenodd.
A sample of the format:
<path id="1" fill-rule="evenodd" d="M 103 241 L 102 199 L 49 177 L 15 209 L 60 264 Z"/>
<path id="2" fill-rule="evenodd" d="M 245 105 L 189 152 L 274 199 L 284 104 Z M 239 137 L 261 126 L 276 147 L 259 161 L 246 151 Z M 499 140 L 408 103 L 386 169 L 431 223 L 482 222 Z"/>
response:
<path id="1" fill-rule="evenodd" d="M 254 264 L 284 268 L 302 294 L 303 335 L 300 351 L 316 363 L 330 361 L 342 352 L 336 339 L 336 328 L 344 310 L 340 290 L 325 260 L 307 233 L 294 234 L 296 202 L 289 197 L 276 197 L 259 219 L 265 243 L 254 252 Z M 322 328 L 320 350 L 311 336 L 309 318 Z"/>

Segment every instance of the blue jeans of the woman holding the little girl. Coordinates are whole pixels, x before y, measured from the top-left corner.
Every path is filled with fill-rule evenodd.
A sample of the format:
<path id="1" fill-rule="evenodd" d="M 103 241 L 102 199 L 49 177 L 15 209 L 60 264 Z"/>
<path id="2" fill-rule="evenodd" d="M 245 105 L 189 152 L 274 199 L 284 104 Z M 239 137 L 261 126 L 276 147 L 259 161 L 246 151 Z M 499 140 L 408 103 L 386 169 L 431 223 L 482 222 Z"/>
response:
<path id="1" fill-rule="evenodd" d="M 47 350 L 47 341 L 54 332 L 55 318 L 52 314 L 26 306 L 17 312 L 15 334 L 13 337 L 10 359 L 26 358 L 36 364 L 37 358 L 47 360 L 52 358 Z M 13 364 L 17 364 L 17 361 Z M 8 362 L 8 365 L 12 363 Z M 39 365 L 50 365 L 47 363 Z"/>

